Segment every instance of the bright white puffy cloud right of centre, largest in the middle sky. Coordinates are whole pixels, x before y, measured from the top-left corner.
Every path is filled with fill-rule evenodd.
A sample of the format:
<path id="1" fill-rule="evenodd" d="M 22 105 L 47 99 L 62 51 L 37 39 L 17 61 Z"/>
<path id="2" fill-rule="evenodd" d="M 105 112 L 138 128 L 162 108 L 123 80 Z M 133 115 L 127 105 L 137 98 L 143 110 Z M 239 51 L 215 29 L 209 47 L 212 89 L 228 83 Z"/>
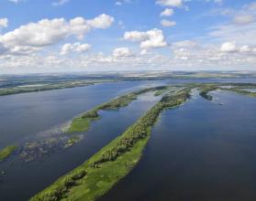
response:
<path id="1" fill-rule="evenodd" d="M 158 28 L 153 28 L 146 32 L 126 32 L 124 35 L 124 39 L 130 41 L 139 41 L 139 47 L 143 49 L 162 48 L 167 46 L 165 37 L 163 36 L 161 29 Z"/>

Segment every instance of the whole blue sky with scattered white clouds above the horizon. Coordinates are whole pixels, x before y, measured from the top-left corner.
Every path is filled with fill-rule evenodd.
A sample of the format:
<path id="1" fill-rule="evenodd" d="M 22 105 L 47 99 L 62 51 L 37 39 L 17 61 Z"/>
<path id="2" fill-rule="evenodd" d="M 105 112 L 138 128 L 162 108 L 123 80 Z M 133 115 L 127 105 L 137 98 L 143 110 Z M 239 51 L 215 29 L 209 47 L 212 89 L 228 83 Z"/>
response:
<path id="1" fill-rule="evenodd" d="M 256 70 L 256 1 L 0 0 L 0 74 Z"/>

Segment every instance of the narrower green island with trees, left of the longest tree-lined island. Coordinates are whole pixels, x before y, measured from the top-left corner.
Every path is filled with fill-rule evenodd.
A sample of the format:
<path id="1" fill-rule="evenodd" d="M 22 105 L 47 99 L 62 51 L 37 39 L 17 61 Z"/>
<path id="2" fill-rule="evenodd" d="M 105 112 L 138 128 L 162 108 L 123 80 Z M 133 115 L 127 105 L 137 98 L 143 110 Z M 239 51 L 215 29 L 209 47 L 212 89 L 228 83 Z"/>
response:
<path id="1" fill-rule="evenodd" d="M 164 90 L 166 88 L 167 87 L 165 86 L 161 86 L 137 90 L 135 92 L 131 92 L 126 95 L 120 96 L 117 99 L 110 100 L 101 105 L 98 105 L 94 109 L 84 112 L 80 117 L 74 118 L 71 124 L 69 125 L 67 132 L 86 132 L 90 127 L 90 123 L 99 119 L 98 111 L 117 110 L 121 107 L 126 107 L 133 100 L 137 100 L 138 96 L 142 93 L 154 90 Z"/>

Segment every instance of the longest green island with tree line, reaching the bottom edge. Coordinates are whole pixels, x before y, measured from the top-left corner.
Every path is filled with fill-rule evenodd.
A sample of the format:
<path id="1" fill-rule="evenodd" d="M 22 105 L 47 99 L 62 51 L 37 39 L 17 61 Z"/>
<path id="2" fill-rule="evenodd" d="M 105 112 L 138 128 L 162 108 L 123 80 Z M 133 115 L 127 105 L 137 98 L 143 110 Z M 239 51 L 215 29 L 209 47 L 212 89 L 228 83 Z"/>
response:
<path id="1" fill-rule="evenodd" d="M 116 140 L 108 143 L 89 160 L 63 175 L 30 201 L 95 200 L 128 175 L 139 162 L 150 139 L 150 129 L 161 111 L 179 106 L 190 98 L 190 89 L 165 94 L 150 111 L 128 127 Z"/>

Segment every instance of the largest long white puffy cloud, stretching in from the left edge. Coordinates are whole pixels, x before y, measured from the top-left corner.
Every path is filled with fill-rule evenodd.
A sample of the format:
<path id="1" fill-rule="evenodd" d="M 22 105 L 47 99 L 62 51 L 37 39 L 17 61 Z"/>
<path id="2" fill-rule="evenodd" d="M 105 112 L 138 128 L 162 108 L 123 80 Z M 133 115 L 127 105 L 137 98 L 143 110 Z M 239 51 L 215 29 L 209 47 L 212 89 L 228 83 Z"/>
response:
<path id="1" fill-rule="evenodd" d="M 29 51 L 56 44 L 61 40 L 75 36 L 83 36 L 95 28 L 105 29 L 112 25 L 114 17 L 105 14 L 94 19 L 75 17 L 70 21 L 64 18 L 42 19 L 37 23 L 19 26 L 17 29 L 0 36 L 0 43 L 12 52 L 13 49 L 27 49 Z"/>

